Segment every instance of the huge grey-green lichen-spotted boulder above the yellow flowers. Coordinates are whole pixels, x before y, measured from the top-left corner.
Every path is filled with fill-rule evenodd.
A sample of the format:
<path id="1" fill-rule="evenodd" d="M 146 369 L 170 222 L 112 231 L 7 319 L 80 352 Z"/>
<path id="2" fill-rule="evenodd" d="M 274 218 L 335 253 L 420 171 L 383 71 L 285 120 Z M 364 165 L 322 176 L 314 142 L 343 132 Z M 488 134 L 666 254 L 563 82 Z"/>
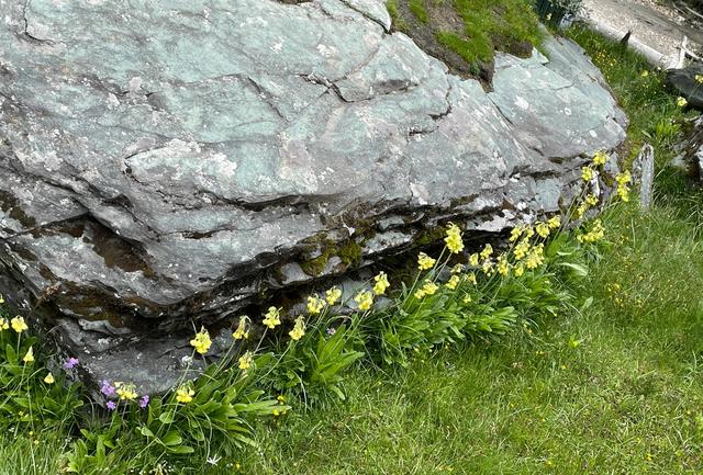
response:
<path id="1" fill-rule="evenodd" d="M 200 326 L 559 208 L 626 118 L 573 43 L 447 73 L 380 0 L 0 1 L 0 292 L 96 380 Z M 223 332 L 223 341 L 228 332 Z M 217 341 L 215 341 L 217 343 Z"/>

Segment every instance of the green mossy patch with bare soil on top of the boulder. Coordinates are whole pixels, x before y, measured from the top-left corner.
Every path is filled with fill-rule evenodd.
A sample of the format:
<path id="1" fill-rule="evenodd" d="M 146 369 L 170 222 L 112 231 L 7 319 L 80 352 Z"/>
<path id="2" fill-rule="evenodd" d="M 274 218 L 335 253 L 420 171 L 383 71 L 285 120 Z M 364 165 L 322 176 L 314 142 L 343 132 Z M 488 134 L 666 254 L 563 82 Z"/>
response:
<path id="1" fill-rule="evenodd" d="M 496 50 L 529 56 L 542 32 L 527 0 L 389 0 L 393 29 L 456 73 L 490 82 Z"/>

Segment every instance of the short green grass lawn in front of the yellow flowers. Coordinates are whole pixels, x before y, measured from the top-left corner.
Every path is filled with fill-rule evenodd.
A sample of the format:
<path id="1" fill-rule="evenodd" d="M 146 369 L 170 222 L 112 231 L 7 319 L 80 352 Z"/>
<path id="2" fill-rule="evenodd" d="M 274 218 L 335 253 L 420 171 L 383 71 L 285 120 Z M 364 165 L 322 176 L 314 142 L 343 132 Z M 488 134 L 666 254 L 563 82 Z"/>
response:
<path id="1" fill-rule="evenodd" d="M 574 308 L 498 340 L 417 353 L 404 370 L 357 367 L 346 402 L 306 411 L 291 402 L 293 411 L 257 427 L 257 448 L 213 453 L 204 467 L 181 459 L 130 471 L 140 448 L 118 440 L 94 473 L 703 473 L 703 205 L 663 167 L 683 114 L 640 58 L 570 35 L 632 118 L 625 158 L 651 142 L 659 170 L 650 213 L 631 203 L 603 216 L 607 242 L 570 287 Z M 0 475 L 59 473 L 67 436 L 11 428 L 0 434 Z"/>

